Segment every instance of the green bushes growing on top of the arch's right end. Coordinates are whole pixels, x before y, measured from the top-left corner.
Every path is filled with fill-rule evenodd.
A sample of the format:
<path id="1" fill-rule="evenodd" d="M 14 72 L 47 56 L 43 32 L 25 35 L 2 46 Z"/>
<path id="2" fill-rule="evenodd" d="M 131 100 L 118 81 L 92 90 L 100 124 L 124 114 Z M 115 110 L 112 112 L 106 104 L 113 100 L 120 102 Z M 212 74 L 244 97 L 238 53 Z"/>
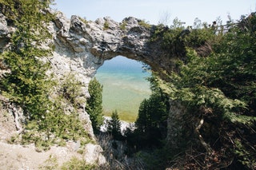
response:
<path id="1" fill-rule="evenodd" d="M 209 45 L 218 39 L 214 30 L 207 26 L 202 27 L 200 20 L 195 21 L 194 29 L 191 26 L 185 28 L 182 26 L 183 23 L 175 18 L 170 28 L 162 25 L 156 26 L 150 42 L 159 42 L 162 49 L 169 52 L 170 57 L 182 57 L 183 60 L 186 58 L 187 47 L 201 48 L 202 53 L 200 55 L 208 55 L 211 50 Z"/>

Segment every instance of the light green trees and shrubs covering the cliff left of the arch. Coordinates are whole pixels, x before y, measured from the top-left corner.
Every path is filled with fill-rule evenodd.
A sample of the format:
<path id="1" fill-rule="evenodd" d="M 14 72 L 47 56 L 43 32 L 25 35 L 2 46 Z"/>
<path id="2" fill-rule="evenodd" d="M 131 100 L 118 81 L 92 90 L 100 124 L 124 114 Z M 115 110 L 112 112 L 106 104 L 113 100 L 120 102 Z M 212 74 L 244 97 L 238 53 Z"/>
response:
<path id="1" fill-rule="evenodd" d="M 49 149 L 51 144 L 66 144 L 65 140 L 81 140 L 82 144 L 90 141 L 84 122 L 78 119 L 77 109 L 85 102 L 77 100 L 82 86 L 74 76 L 67 76 L 62 83 L 53 81 L 46 75 L 50 63 L 42 61 L 42 57 L 52 52 L 47 43 L 52 38 L 47 29 L 54 17 L 47 11 L 51 2 L 1 1 L 2 13 L 15 28 L 10 50 L 1 54 L 2 65 L 10 69 L 0 80 L 1 93 L 23 109 L 25 118 L 21 122 L 22 139 L 18 136 L 10 141 L 34 143 L 39 150 Z M 67 105 L 63 104 L 72 105 L 74 109 L 67 113 Z"/>

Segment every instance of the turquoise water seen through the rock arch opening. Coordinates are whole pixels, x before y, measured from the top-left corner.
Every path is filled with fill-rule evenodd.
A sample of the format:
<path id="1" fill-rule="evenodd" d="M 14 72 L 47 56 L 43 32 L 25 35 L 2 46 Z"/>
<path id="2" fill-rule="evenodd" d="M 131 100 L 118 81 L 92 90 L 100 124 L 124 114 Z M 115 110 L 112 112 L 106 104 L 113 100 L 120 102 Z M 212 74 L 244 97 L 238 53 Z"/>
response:
<path id="1" fill-rule="evenodd" d="M 123 121 L 135 121 L 143 99 L 150 97 L 150 73 L 142 71 L 142 63 L 114 57 L 97 70 L 95 77 L 103 85 L 102 106 L 106 116 L 116 109 Z"/>

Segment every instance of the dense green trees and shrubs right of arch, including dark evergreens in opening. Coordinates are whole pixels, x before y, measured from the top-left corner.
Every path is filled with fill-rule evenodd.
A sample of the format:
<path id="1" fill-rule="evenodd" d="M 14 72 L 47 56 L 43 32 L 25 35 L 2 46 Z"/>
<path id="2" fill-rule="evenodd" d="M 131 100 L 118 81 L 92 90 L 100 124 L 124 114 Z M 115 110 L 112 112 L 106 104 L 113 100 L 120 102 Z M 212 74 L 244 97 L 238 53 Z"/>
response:
<path id="1" fill-rule="evenodd" d="M 256 15 L 225 27 L 178 23 L 157 26 L 150 39 L 162 42 L 176 65 L 165 81 L 150 78 L 153 94 L 142 101 L 135 128 L 124 132 L 126 154 L 146 169 L 255 169 Z M 178 112 L 169 120 L 174 131 L 166 125 L 169 109 Z"/>

